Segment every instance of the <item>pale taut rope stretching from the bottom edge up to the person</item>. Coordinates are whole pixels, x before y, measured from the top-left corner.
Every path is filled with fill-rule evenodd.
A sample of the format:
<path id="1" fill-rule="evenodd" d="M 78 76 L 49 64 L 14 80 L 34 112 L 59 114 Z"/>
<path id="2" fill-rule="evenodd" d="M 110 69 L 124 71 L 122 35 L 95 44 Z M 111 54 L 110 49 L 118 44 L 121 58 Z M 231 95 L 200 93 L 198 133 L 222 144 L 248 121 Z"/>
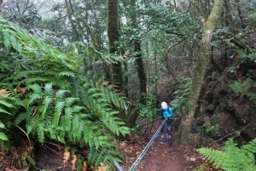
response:
<path id="1" fill-rule="evenodd" d="M 149 147 L 152 145 L 152 143 L 154 142 L 154 140 L 156 139 L 156 137 L 158 136 L 158 134 L 160 133 L 160 129 L 165 125 L 167 120 L 167 117 L 165 118 L 165 120 L 160 124 L 160 127 L 156 130 L 156 132 L 154 133 L 153 137 L 151 138 L 151 140 L 149 140 L 148 145 L 145 146 L 144 150 L 142 151 L 142 153 L 140 154 L 139 157 L 137 157 L 137 160 L 135 162 L 133 162 L 133 164 L 131 165 L 131 168 L 128 171 L 134 171 L 137 168 L 137 165 L 142 161 L 143 157 L 145 156 L 145 154 L 148 152 Z M 118 169 L 118 171 L 124 171 L 123 168 L 121 168 L 119 166 L 119 163 L 114 162 L 114 166 Z"/>

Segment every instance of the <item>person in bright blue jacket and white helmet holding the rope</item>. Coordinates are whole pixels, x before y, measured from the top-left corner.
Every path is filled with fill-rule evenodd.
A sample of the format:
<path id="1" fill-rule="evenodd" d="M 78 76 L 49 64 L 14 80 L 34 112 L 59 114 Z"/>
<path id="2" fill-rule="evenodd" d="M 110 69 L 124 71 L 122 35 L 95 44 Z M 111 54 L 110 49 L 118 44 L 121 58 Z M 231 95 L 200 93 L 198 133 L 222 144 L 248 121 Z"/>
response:
<path id="1" fill-rule="evenodd" d="M 173 110 L 170 105 L 167 105 L 166 101 L 161 102 L 160 107 L 160 117 L 162 120 L 167 117 L 166 123 L 163 125 L 163 127 L 160 129 L 160 140 L 164 140 L 164 131 L 167 126 L 167 134 L 172 134 L 172 116 L 173 116 Z"/>

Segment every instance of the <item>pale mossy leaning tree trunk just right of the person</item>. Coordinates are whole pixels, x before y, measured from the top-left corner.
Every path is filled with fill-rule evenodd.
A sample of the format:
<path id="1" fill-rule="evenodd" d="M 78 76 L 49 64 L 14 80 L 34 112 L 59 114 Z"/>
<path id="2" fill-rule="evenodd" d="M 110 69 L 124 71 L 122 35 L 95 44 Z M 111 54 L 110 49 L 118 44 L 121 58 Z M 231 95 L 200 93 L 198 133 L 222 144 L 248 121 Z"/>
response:
<path id="1" fill-rule="evenodd" d="M 198 4 L 197 2 L 196 4 Z M 201 92 L 202 84 L 204 83 L 204 77 L 207 72 L 207 67 L 211 59 L 211 46 L 212 31 L 218 26 L 221 20 L 221 15 L 224 9 L 224 0 L 215 0 L 211 13 L 209 14 L 207 21 L 203 28 L 203 34 L 201 39 L 201 47 L 198 54 L 198 59 L 195 67 L 195 73 L 193 77 L 192 86 L 189 93 L 189 114 L 183 118 L 183 122 L 178 129 L 179 144 L 188 145 L 194 142 L 189 135 L 189 128 L 191 127 L 195 118 L 195 109 L 199 94 Z"/>

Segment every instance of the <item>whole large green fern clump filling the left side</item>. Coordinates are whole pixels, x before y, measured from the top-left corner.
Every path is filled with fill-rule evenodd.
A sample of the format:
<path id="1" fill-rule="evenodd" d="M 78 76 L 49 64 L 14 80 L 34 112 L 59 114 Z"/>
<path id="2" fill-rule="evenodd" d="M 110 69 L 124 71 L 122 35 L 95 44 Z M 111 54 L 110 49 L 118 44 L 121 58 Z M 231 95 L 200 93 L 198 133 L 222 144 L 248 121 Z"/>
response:
<path id="1" fill-rule="evenodd" d="M 86 147 L 92 164 L 119 157 L 115 136 L 130 132 L 116 116 L 126 109 L 122 94 L 95 71 L 84 71 L 78 54 L 61 53 L 4 20 L 0 47 L 0 89 L 10 92 L 0 99 L 0 140 L 11 140 L 3 129 L 17 125 L 42 144 Z"/>

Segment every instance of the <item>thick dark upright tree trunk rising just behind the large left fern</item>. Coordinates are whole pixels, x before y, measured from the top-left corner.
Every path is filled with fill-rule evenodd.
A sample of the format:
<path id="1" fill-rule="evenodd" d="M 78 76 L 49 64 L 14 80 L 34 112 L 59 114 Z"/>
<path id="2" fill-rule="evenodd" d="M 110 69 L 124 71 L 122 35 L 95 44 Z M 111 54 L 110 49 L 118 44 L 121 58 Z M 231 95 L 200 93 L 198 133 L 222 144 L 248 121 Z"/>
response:
<path id="1" fill-rule="evenodd" d="M 118 51 L 117 43 L 119 42 L 119 0 L 107 0 L 107 6 L 109 53 L 115 55 Z M 123 69 L 120 61 L 116 61 L 111 66 L 111 83 L 123 91 Z"/>

